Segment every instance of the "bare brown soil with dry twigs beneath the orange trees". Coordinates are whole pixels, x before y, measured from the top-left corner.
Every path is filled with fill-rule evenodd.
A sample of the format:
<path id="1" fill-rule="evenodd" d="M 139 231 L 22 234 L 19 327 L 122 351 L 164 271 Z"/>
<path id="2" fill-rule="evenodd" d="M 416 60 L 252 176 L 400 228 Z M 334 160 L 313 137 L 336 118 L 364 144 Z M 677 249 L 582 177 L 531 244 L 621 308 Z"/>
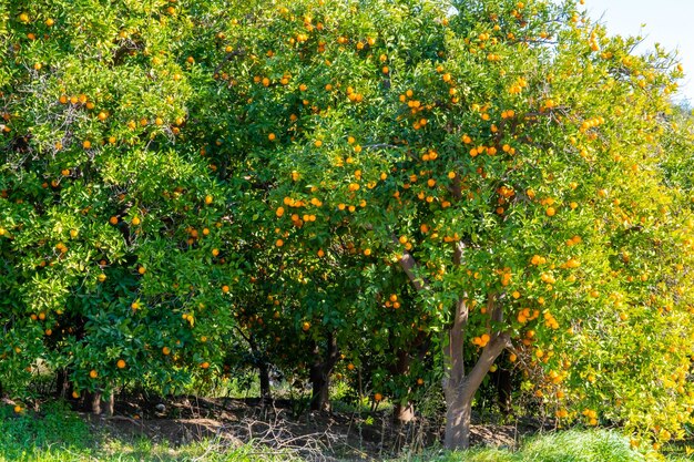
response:
<path id="1" fill-rule="evenodd" d="M 113 417 L 82 414 L 94 430 L 120 438 L 145 437 L 176 446 L 214 439 L 237 446 L 253 441 L 287 450 L 309 461 L 375 461 L 402 450 L 419 450 L 441 440 L 441 422 L 418 418 L 396 424 L 389 411 L 303 412 L 289 400 L 177 397 L 161 402 L 116 401 Z M 472 443 L 514 448 L 533 422 L 517 425 L 473 425 Z"/>

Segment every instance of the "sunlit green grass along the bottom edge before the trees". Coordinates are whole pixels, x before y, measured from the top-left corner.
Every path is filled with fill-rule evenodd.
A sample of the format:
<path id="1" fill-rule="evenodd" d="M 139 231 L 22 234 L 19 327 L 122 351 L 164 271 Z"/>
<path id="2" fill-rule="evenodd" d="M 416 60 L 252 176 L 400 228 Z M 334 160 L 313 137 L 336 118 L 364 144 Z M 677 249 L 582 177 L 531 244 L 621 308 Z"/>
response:
<path id="1" fill-rule="evenodd" d="M 463 452 L 430 450 L 425 454 L 404 455 L 391 462 L 641 462 L 619 433 L 564 431 L 535 435 L 519 451 L 473 449 Z M 685 462 L 684 455 L 660 459 Z M 253 442 L 239 448 L 207 440 L 183 446 L 153 442 L 146 438 L 123 439 L 95 434 L 89 424 L 64 404 L 47 404 L 38 415 L 14 415 L 9 407 L 0 408 L 0 462 L 78 462 L 78 461 L 210 461 L 210 462 L 298 462 L 294 454 L 276 453 Z"/>

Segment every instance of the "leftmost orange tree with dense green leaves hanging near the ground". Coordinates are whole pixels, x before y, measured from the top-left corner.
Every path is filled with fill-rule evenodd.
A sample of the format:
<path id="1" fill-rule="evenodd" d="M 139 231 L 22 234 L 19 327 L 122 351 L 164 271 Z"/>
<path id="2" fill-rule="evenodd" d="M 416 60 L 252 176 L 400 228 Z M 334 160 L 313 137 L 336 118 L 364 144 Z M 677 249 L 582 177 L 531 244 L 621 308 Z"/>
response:
<path id="1" fill-rule="evenodd" d="M 4 4 L 0 382 L 208 373 L 242 271 L 232 194 L 183 136 L 194 27 L 165 1 Z"/>

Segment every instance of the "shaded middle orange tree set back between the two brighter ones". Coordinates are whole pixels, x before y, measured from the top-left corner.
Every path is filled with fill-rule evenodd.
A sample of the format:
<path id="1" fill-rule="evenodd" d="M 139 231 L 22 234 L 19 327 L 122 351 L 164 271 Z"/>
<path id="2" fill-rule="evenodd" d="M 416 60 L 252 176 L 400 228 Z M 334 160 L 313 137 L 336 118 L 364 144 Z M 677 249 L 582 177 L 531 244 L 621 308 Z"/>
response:
<path id="1" fill-rule="evenodd" d="M 298 187 L 306 183 L 299 182 L 300 173 L 278 165 L 280 157 L 297 151 L 293 133 L 303 136 L 305 127 L 320 119 L 317 104 L 327 107 L 335 94 L 320 89 L 324 101 L 313 106 L 302 97 L 308 91 L 304 79 L 317 78 L 297 80 L 305 68 L 302 43 L 308 35 L 304 32 L 313 25 L 290 19 L 287 9 L 256 11 L 245 6 L 229 17 L 223 6 L 211 3 L 200 16 L 205 18 L 205 27 L 184 51 L 194 62 L 191 82 L 202 89 L 191 101 L 186 142 L 202 146 L 200 153 L 210 167 L 222 181 L 234 184 L 243 197 L 234 205 L 244 217 L 241 251 L 247 267 L 247 284 L 235 291 L 234 311 L 242 320 L 237 330 L 261 371 L 268 361 L 287 370 L 304 365 L 298 369 L 313 383 L 314 408 L 326 408 L 339 349 L 354 350 L 354 343 L 360 341 L 372 345 L 368 325 L 378 316 L 374 308 L 382 307 L 392 292 L 376 297 L 379 290 L 371 290 L 365 297 L 365 287 L 388 278 L 370 266 L 361 279 L 354 277 L 355 267 L 374 258 L 357 248 L 341 218 L 331 216 L 315 197 L 317 187 L 308 186 L 299 194 L 287 192 L 287 181 Z M 275 197 L 285 193 L 282 206 L 276 207 Z M 302 211 L 302 201 L 310 211 Z M 322 233 L 314 235 L 313 224 L 325 220 L 329 220 L 327 227 L 322 225 L 316 228 Z M 304 232 L 306 239 L 300 237 Z M 363 284 L 365 280 L 374 284 Z M 271 351 L 278 353 L 268 356 Z M 380 376 L 387 374 L 381 371 Z M 267 392 L 263 387 L 263 393 Z"/>

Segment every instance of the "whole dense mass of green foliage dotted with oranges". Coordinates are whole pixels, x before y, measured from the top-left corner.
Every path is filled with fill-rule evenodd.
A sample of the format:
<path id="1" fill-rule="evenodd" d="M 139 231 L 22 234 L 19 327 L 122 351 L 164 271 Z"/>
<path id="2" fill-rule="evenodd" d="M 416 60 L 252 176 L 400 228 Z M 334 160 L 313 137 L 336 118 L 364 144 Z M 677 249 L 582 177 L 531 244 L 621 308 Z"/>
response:
<path id="1" fill-rule="evenodd" d="M 562 422 L 683 437 L 672 55 L 574 2 L 3 3 L 6 393 L 274 366 L 405 412 L 443 379 L 459 446 L 499 360 Z"/>

